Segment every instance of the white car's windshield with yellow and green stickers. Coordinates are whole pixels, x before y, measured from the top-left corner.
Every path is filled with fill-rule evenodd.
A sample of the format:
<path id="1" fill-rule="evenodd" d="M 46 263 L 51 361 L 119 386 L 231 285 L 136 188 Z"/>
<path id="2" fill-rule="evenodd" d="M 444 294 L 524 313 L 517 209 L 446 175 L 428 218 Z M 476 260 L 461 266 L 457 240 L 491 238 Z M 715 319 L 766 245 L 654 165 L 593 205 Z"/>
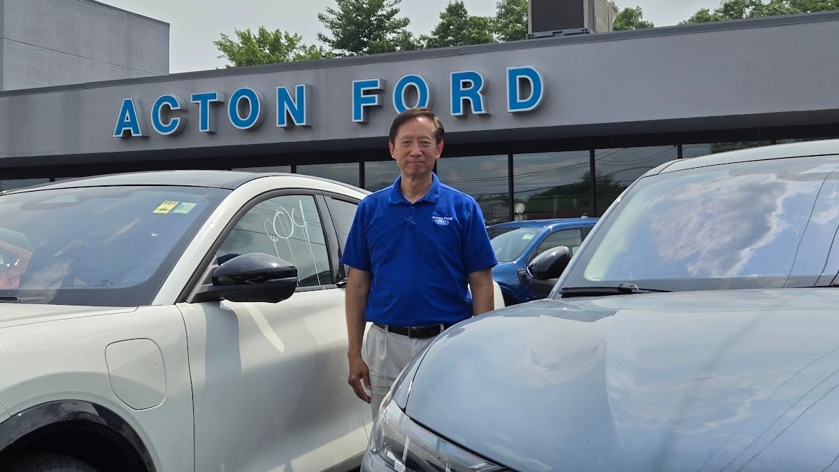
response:
<path id="1" fill-rule="evenodd" d="M 147 305 L 228 192 L 98 186 L 0 196 L 0 299 Z"/>

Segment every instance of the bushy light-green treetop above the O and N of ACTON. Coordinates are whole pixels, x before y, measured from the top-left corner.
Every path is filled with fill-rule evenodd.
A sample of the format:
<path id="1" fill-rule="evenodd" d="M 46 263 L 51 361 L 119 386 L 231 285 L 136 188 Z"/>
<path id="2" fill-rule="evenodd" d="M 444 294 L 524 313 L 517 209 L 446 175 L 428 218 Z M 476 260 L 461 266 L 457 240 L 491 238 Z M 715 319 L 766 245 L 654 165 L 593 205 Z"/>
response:
<path id="1" fill-rule="evenodd" d="M 258 66 L 332 57 L 330 52 L 320 46 L 303 44 L 303 37 L 300 34 L 289 34 L 279 29 L 274 29 L 272 32 L 264 26 L 259 27 L 257 34 L 251 33 L 251 29 L 244 31 L 233 29 L 233 32 L 236 34 L 236 41 L 222 33 L 221 39 L 212 42 L 221 52 L 218 57 L 231 62 L 226 67 Z"/>

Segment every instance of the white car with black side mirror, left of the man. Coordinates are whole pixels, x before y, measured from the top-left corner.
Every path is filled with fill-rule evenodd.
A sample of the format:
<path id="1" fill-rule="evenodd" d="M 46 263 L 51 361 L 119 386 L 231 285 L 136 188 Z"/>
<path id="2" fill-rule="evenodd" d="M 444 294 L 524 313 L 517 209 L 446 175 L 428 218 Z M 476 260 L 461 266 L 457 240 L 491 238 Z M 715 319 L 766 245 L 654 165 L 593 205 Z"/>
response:
<path id="1" fill-rule="evenodd" d="M 0 470 L 357 468 L 338 260 L 366 194 L 178 170 L 0 195 Z"/>

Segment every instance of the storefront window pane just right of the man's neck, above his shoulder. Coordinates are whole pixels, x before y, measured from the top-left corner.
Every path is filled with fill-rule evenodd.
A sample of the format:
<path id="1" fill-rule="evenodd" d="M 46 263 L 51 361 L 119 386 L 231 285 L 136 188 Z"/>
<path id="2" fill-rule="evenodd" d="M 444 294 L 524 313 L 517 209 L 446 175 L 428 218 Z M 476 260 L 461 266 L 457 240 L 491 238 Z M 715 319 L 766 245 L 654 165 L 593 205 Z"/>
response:
<path id="1" fill-rule="evenodd" d="M 509 221 L 507 155 L 473 155 L 437 160 L 440 181 L 467 193 L 481 206 L 487 225 Z"/>

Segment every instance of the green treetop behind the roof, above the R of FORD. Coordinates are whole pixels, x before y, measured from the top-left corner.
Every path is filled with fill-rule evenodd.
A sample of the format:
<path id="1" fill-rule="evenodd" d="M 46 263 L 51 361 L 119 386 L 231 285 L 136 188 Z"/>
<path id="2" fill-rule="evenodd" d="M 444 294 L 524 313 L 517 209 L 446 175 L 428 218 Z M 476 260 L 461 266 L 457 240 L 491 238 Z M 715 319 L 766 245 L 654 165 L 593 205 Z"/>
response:
<path id="1" fill-rule="evenodd" d="M 426 48 L 446 46 L 483 45 L 492 43 L 492 20 L 488 17 L 469 16 L 466 5 L 455 0 L 440 13 L 440 23 L 430 36 L 420 36 Z"/>

